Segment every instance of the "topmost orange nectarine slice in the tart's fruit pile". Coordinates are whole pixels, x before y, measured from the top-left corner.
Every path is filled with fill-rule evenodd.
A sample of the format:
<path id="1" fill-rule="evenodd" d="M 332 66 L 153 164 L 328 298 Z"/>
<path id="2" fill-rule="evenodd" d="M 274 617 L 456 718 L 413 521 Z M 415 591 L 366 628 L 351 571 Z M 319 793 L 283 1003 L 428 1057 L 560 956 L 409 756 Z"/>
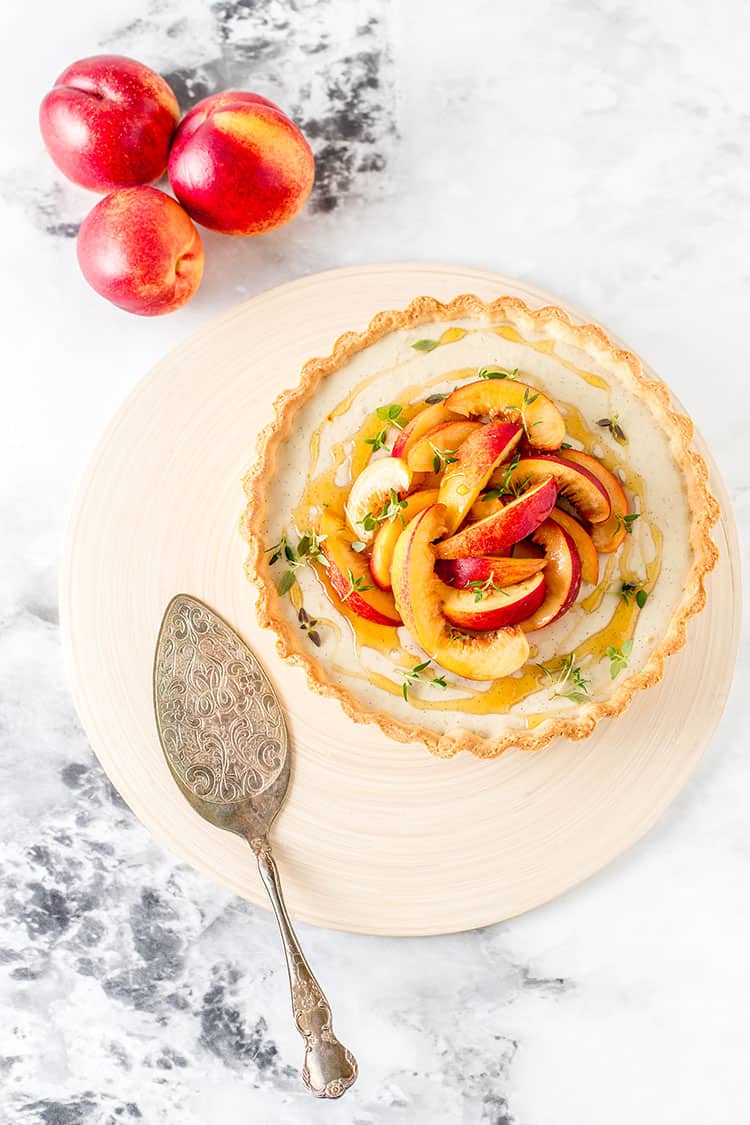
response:
<path id="1" fill-rule="evenodd" d="M 517 379 L 467 382 L 448 396 L 445 406 L 464 417 L 525 422 L 526 435 L 536 449 L 559 449 L 566 435 L 564 418 L 552 399 Z"/>

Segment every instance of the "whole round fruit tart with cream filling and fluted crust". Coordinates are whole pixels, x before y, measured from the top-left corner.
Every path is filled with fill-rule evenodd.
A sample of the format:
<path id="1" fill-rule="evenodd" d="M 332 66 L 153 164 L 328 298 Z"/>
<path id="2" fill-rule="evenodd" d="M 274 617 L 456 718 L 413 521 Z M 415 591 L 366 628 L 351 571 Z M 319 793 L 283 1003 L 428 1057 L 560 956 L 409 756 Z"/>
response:
<path id="1" fill-rule="evenodd" d="M 260 621 L 313 690 L 440 756 L 585 738 L 705 604 L 719 505 L 692 441 L 665 385 L 560 308 L 380 313 L 260 436 Z"/>

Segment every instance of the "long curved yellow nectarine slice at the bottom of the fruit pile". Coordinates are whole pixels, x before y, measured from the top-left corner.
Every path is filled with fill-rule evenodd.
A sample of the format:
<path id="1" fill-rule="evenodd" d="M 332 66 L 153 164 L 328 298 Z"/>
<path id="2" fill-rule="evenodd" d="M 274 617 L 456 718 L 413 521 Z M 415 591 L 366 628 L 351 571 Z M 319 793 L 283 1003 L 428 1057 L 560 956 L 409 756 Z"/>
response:
<path id="1" fill-rule="evenodd" d="M 467 680 L 499 680 L 524 664 L 528 641 L 517 626 L 463 634 L 445 619 L 433 541 L 445 533 L 446 518 L 443 505 L 434 504 L 415 515 L 399 536 L 391 567 L 396 606 L 406 628 L 441 667 Z"/>

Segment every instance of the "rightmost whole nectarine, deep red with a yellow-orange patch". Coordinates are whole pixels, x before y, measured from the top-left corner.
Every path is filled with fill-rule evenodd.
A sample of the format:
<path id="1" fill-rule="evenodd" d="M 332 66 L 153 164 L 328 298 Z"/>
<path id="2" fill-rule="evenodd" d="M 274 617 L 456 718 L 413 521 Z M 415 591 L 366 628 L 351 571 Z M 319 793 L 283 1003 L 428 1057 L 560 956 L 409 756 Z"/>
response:
<path id="1" fill-rule="evenodd" d="M 169 177 L 197 223 L 223 234 L 263 234 L 302 207 L 315 160 L 277 106 L 257 94 L 227 91 L 199 101 L 180 123 Z"/>

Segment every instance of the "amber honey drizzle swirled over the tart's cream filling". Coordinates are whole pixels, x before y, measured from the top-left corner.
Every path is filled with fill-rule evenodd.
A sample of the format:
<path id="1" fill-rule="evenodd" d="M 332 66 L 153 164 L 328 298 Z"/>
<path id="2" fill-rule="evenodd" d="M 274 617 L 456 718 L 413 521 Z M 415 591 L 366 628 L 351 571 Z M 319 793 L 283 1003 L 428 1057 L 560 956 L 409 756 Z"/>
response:
<path id="1" fill-rule="evenodd" d="M 448 328 L 441 335 L 439 345 L 453 343 L 457 340 L 462 340 L 470 333 L 480 331 L 486 330 L 466 330 L 458 327 Z M 528 341 L 509 326 L 501 326 L 493 331 L 506 340 L 532 348 L 534 351 L 542 352 L 548 356 L 554 354 L 559 363 L 573 371 L 573 374 L 584 379 L 590 386 L 609 390 L 609 384 L 600 376 L 595 375 L 593 371 L 586 371 L 558 356 L 554 350 L 554 341 Z M 404 367 L 410 360 L 412 357 L 403 360 L 400 363 L 397 363 L 395 368 L 390 370 Z M 324 421 L 313 432 L 309 442 L 310 467 L 306 478 L 306 486 L 301 501 L 293 511 L 293 521 L 298 530 L 301 531 L 313 525 L 316 518 L 319 516 L 319 512 L 324 507 L 331 507 L 336 513 L 343 515 L 344 502 L 346 500 L 349 488 L 351 487 L 351 480 L 359 476 L 370 460 L 370 456 L 372 453 L 372 449 L 367 444 L 365 439 L 373 438 L 380 430 L 382 430 L 385 423 L 378 417 L 377 414 L 373 413 L 369 415 L 352 438 L 347 439 L 345 442 L 334 443 L 331 450 L 333 465 L 329 469 L 314 478 L 313 474 L 317 468 L 323 429 L 325 425 L 331 423 L 334 417 L 341 417 L 346 414 L 347 411 L 351 410 L 356 397 L 385 374 L 389 372 L 378 371 L 374 375 L 362 379 L 355 387 L 352 388 L 345 398 L 343 398 L 342 402 L 327 414 Z M 408 423 L 410 418 L 414 417 L 414 415 L 423 407 L 424 398 L 426 397 L 426 388 L 451 381 L 461 382 L 475 375 L 476 368 L 473 367 L 459 368 L 453 371 L 443 372 L 432 379 L 423 380 L 418 384 L 413 384 L 406 387 L 397 398 L 392 399 L 392 402 L 401 406 L 403 410 L 399 421 L 404 424 Z M 534 384 L 536 386 L 542 386 L 542 389 L 544 389 L 543 380 L 534 379 Z M 580 442 L 587 451 L 591 451 L 591 449 L 598 444 L 600 434 L 595 430 L 591 430 L 585 421 L 581 412 L 576 406 L 570 403 L 560 402 L 559 399 L 555 399 L 555 402 L 564 414 L 568 435 Z M 347 475 L 349 479 L 343 485 L 336 484 L 336 477 L 338 476 L 342 466 L 350 457 L 351 469 Z M 585 660 L 587 657 L 591 657 L 597 660 L 602 659 L 604 658 L 608 647 L 612 646 L 614 648 L 622 649 L 623 644 L 633 636 L 638 618 L 638 605 L 634 600 L 630 600 L 630 602 L 626 603 L 625 600 L 620 596 L 618 590 L 613 590 L 611 585 L 617 559 L 620 559 L 620 574 L 622 579 L 625 582 L 636 582 L 648 592 L 653 588 L 661 570 L 662 533 L 649 518 L 645 483 L 618 453 L 607 449 L 607 456 L 600 458 L 600 460 L 611 471 L 615 472 L 615 475 L 620 477 L 623 482 L 624 488 L 638 497 L 640 518 L 645 524 L 648 524 L 654 547 L 654 555 L 653 558 L 645 564 L 645 576 L 642 574 L 635 574 L 630 567 L 630 558 L 633 550 L 633 542 L 630 536 L 625 538 L 625 541 L 618 552 L 607 557 L 604 574 L 600 577 L 598 585 L 590 594 L 579 602 L 579 605 L 585 613 L 590 614 L 602 605 L 604 597 L 607 594 L 611 594 L 617 596 L 615 609 L 606 626 L 593 633 L 585 641 L 577 645 L 577 663 L 579 660 Z M 334 665 L 334 670 L 340 675 L 369 682 L 391 695 L 400 695 L 400 684 L 390 680 L 382 673 L 377 672 L 373 668 L 369 668 L 362 659 L 362 650 L 371 649 L 388 658 L 396 667 L 403 667 L 405 669 L 410 668 L 416 658 L 413 652 L 409 652 L 401 646 L 398 637 L 398 629 L 390 626 L 376 624 L 374 622 L 367 621 L 353 613 L 334 593 L 331 584 L 328 583 L 325 568 L 316 564 L 314 565 L 314 570 L 326 593 L 328 601 L 335 608 L 336 612 L 343 615 L 349 622 L 354 639 L 356 655 L 360 659 L 362 668 L 364 669 L 364 672 L 353 672 L 350 668 L 343 668 Z M 295 590 L 297 590 L 297 587 L 292 587 L 292 591 Z M 298 590 L 297 593 L 299 596 Z M 297 609 L 299 608 L 293 601 L 292 604 L 295 604 Z M 334 622 L 328 621 L 327 619 L 320 619 L 320 623 L 325 623 L 329 627 L 334 626 Z M 341 636 L 340 631 L 338 634 Z M 528 662 L 524 665 L 519 673 L 495 681 L 485 690 L 477 690 L 473 692 L 469 691 L 468 694 L 463 696 L 445 699 L 441 699 L 440 696 L 435 699 L 422 699 L 415 693 L 414 690 L 412 690 L 409 692 L 409 703 L 415 709 L 422 711 L 453 711 L 470 712 L 472 714 L 503 713 L 509 711 L 513 706 L 540 691 L 546 682 L 548 677 L 544 672 L 537 665 Z M 527 727 L 535 727 L 549 717 L 549 712 L 541 712 L 526 714 L 524 716 L 524 720 Z"/>

